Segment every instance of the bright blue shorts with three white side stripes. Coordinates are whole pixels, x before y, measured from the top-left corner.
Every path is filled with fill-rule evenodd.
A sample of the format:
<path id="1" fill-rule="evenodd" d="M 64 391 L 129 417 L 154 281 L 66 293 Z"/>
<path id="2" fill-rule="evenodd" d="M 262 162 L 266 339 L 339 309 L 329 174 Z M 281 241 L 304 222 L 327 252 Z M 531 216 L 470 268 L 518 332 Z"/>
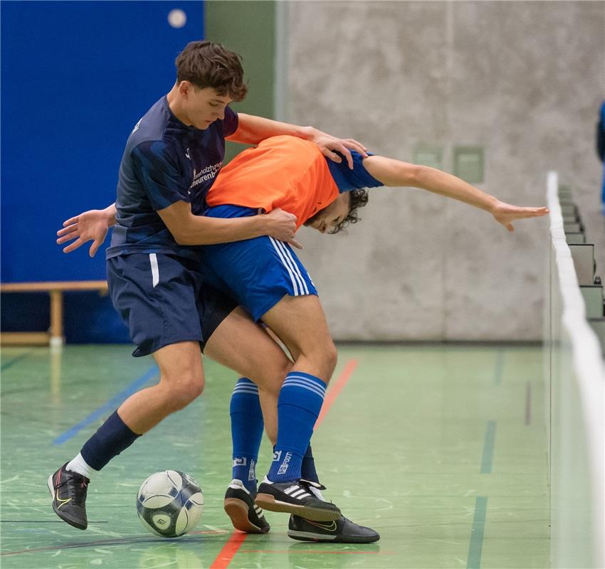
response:
<path id="1" fill-rule="evenodd" d="M 216 206 L 206 212 L 216 218 L 248 217 L 256 210 L 241 206 Z M 204 280 L 231 295 L 261 320 L 286 294 L 317 294 L 309 273 L 290 245 L 272 237 L 257 237 L 202 248 Z"/>

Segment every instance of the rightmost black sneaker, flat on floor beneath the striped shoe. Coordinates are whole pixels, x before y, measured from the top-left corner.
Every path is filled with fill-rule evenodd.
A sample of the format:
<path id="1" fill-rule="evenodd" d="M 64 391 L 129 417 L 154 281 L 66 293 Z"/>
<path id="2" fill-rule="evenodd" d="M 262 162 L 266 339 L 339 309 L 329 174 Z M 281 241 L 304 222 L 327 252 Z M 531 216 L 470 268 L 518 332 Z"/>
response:
<path id="1" fill-rule="evenodd" d="M 341 516 L 335 521 L 320 522 L 290 516 L 288 536 L 300 541 L 331 541 L 332 543 L 374 543 L 380 536 L 377 531 Z"/>

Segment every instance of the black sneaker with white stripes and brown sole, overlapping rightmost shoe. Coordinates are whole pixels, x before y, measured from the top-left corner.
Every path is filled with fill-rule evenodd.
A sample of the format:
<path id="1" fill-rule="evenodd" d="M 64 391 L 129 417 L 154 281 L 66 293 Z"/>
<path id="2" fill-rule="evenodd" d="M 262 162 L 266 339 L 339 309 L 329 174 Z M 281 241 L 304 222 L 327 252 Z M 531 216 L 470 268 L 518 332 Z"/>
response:
<path id="1" fill-rule="evenodd" d="M 270 482 L 267 478 L 258 486 L 256 504 L 269 511 L 285 511 L 313 521 L 339 519 L 340 509 L 332 502 L 325 502 L 312 494 L 309 489 L 314 482 L 290 480 L 290 482 Z M 317 486 L 321 486 L 317 484 Z M 321 486 L 322 487 L 322 486 Z"/>

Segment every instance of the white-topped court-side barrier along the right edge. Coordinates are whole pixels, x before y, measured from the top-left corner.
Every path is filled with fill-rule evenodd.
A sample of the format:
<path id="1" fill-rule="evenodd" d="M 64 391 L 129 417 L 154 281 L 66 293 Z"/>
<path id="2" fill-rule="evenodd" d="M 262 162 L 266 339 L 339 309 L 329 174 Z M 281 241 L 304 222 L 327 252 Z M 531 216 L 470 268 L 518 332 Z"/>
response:
<path id="1" fill-rule="evenodd" d="M 547 338 L 551 362 L 547 378 L 551 393 L 551 558 L 553 567 L 603 568 L 605 365 L 599 340 L 586 321 L 565 238 L 558 186 L 557 173 L 549 172 L 552 262 L 548 286 L 550 304 L 555 307 L 550 311 Z"/>

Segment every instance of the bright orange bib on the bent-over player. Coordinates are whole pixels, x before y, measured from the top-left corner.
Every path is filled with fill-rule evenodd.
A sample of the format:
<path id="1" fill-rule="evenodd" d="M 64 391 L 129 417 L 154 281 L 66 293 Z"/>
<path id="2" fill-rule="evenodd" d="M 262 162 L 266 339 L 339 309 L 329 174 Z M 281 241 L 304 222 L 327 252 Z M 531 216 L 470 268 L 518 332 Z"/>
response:
<path id="1" fill-rule="evenodd" d="M 297 228 L 338 197 L 338 187 L 317 145 L 297 137 L 263 140 L 221 169 L 206 196 L 209 206 L 275 208 L 293 213 Z"/>

